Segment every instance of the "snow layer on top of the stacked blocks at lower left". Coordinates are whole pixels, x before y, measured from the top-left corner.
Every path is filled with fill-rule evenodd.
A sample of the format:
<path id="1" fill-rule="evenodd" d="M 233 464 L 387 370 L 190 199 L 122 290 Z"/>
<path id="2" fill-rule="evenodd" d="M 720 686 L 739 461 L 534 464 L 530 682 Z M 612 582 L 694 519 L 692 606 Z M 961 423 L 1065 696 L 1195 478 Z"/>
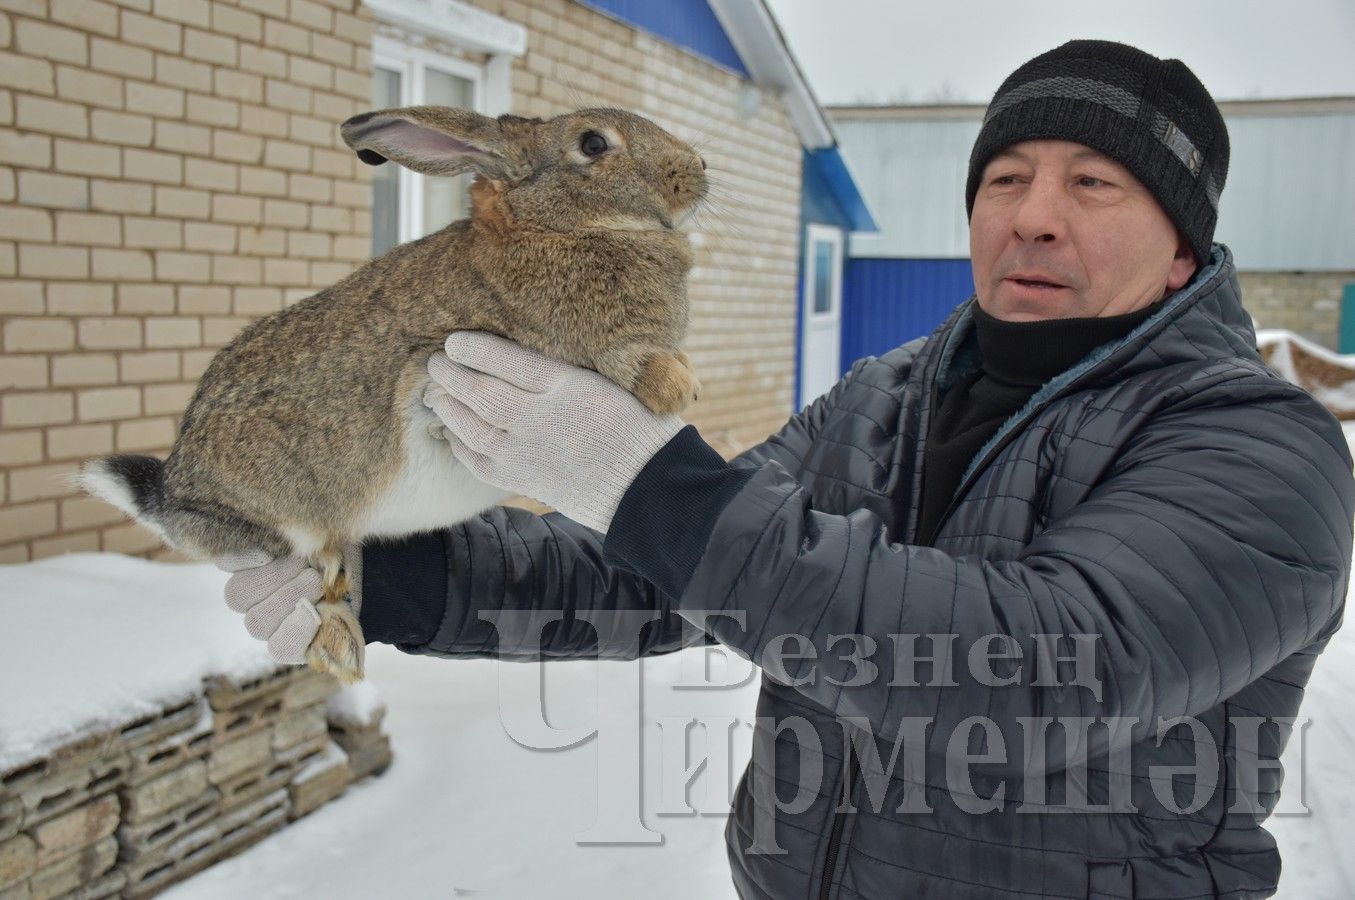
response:
<path id="1" fill-rule="evenodd" d="M 210 564 L 72 553 L 0 565 L 0 771 L 276 668 Z"/>

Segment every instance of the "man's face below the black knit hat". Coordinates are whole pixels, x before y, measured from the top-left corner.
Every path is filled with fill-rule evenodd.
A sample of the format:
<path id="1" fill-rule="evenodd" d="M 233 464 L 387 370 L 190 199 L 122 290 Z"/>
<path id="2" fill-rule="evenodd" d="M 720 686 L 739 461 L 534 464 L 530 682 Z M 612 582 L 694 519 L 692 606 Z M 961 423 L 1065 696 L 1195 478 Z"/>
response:
<path id="1" fill-rule="evenodd" d="M 978 305 L 1007 321 L 1121 316 L 1195 272 L 1129 169 L 1072 141 L 1022 141 L 984 168 L 969 222 Z"/>

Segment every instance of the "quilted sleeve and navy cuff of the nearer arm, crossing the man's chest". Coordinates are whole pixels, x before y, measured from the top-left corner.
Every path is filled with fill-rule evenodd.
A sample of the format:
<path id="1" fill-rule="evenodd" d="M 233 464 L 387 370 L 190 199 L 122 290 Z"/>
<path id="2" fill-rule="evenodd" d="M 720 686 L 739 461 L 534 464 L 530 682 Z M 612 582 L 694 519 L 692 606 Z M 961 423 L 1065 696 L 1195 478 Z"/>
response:
<path id="1" fill-rule="evenodd" d="M 986 713 L 1008 739 L 1019 717 L 1100 716 L 1137 720 L 1129 733 L 1138 740 L 1157 717 L 1213 708 L 1340 621 L 1355 514 L 1350 451 L 1306 393 L 1238 373 L 1183 388 L 1087 499 L 1014 561 L 890 544 L 874 514 L 816 511 L 779 464 L 733 470 L 690 434 L 627 491 L 607 554 L 679 598 L 679 614 L 721 642 L 837 716 L 867 718 L 877 735 L 897 735 L 905 717 Z M 684 495 L 699 508 L 665 511 Z M 687 538 L 676 529 L 705 535 L 696 556 L 644 553 L 680 548 Z M 696 621 L 696 610 L 744 621 Z M 790 634 L 808 638 L 810 659 L 785 656 L 778 637 Z M 837 638 L 851 634 L 864 636 L 874 678 Z M 954 687 L 890 684 L 892 636 L 905 634 L 958 636 Z M 996 686 L 966 664 L 992 634 L 1024 660 L 1016 684 Z M 1035 634 L 1098 636 L 1100 690 L 1034 686 Z M 771 659 L 778 648 L 780 661 Z M 930 649 L 921 642 L 917 655 Z M 1093 729 L 1085 750 L 1107 750 L 1104 735 Z"/>

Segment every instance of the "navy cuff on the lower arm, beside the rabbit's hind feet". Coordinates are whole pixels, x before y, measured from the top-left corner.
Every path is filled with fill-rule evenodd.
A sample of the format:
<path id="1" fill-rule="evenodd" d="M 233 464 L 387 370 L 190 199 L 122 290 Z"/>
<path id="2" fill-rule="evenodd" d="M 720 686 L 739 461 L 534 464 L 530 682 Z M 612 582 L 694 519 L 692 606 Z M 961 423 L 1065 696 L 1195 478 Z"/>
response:
<path id="1" fill-rule="evenodd" d="M 440 531 L 362 548 L 358 622 L 369 644 L 424 647 L 447 610 L 447 546 Z"/>

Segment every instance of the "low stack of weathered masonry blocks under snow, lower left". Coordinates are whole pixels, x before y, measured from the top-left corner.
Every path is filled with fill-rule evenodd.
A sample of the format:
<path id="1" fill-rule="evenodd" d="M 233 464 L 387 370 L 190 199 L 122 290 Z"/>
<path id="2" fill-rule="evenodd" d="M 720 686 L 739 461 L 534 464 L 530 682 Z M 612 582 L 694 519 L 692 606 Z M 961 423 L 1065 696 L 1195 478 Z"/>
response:
<path id="1" fill-rule="evenodd" d="M 337 682 L 289 668 L 0 771 L 0 900 L 145 897 L 390 763 L 379 717 L 327 716 Z"/>

